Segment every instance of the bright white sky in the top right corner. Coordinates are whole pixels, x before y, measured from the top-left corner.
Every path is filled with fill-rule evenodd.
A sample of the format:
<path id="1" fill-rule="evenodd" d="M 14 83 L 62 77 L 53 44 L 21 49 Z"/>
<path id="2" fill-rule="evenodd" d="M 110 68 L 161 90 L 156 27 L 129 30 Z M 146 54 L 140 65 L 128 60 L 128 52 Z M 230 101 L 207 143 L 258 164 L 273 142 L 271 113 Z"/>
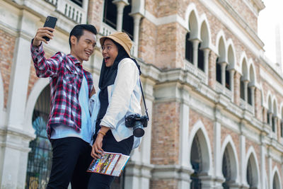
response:
<path id="1" fill-rule="evenodd" d="M 258 16 L 258 36 L 265 43 L 265 55 L 275 63 L 275 25 L 279 23 L 283 28 L 283 0 L 263 0 L 263 3 L 265 8 Z"/>

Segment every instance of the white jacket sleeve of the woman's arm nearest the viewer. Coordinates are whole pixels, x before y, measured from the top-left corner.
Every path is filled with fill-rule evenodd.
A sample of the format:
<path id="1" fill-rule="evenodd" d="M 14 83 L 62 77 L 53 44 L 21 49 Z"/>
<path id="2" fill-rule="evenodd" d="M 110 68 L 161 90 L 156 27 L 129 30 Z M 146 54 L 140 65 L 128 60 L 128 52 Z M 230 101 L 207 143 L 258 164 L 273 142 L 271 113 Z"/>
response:
<path id="1" fill-rule="evenodd" d="M 100 125 L 115 129 L 117 122 L 124 119 L 129 110 L 130 99 L 138 78 L 139 71 L 132 59 L 120 62 L 111 101 Z"/>

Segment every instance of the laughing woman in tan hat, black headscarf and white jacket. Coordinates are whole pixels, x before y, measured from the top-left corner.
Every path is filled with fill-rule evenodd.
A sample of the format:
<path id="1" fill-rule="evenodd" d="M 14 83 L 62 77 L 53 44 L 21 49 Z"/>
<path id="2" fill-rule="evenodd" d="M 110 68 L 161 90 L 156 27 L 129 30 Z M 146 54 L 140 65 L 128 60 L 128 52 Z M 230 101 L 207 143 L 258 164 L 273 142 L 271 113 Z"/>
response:
<path id="1" fill-rule="evenodd" d="M 103 64 L 98 94 L 91 98 L 91 119 L 96 124 L 91 156 L 98 159 L 103 151 L 129 155 L 139 146 L 140 138 L 125 126 L 125 115 L 141 113 L 139 65 L 130 58 L 132 41 L 126 33 L 100 38 Z M 92 173 L 88 188 L 110 188 L 114 176 Z"/>

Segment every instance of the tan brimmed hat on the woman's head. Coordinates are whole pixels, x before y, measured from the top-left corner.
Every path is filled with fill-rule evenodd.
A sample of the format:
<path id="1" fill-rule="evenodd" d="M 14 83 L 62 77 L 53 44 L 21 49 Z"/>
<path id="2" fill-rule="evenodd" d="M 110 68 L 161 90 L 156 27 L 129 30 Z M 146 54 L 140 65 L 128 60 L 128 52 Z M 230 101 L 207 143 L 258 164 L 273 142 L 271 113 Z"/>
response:
<path id="1" fill-rule="evenodd" d="M 131 57 L 130 50 L 132 48 L 132 40 L 129 38 L 129 35 L 127 35 L 127 33 L 116 32 L 116 33 L 112 33 L 108 36 L 101 37 L 100 40 L 99 40 L 101 46 L 103 45 L 103 42 L 107 38 L 114 40 L 115 42 L 119 43 L 125 49 L 125 51 L 129 55 L 129 57 Z"/>

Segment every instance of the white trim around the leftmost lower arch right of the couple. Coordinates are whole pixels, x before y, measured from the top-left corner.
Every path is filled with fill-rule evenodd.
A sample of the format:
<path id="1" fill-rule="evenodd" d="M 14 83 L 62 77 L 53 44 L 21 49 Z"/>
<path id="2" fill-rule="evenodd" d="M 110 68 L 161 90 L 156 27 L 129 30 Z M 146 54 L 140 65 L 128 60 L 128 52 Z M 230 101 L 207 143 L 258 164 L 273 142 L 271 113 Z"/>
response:
<path id="1" fill-rule="evenodd" d="M 205 139 L 205 144 L 207 145 L 207 150 L 208 150 L 208 156 L 209 156 L 209 170 L 208 170 L 208 174 L 210 176 L 212 176 L 212 148 L 209 142 L 209 137 L 207 134 L 207 130 L 205 129 L 203 123 L 201 120 L 198 120 L 195 125 L 192 127 L 192 130 L 190 132 L 190 137 L 189 137 L 189 151 L 191 151 L 192 149 L 192 142 L 193 139 L 195 137 L 195 134 L 197 134 L 198 131 L 201 131 L 202 134 L 204 135 L 204 139 Z M 190 156 L 189 156 L 189 162 L 190 162 Z"/>

